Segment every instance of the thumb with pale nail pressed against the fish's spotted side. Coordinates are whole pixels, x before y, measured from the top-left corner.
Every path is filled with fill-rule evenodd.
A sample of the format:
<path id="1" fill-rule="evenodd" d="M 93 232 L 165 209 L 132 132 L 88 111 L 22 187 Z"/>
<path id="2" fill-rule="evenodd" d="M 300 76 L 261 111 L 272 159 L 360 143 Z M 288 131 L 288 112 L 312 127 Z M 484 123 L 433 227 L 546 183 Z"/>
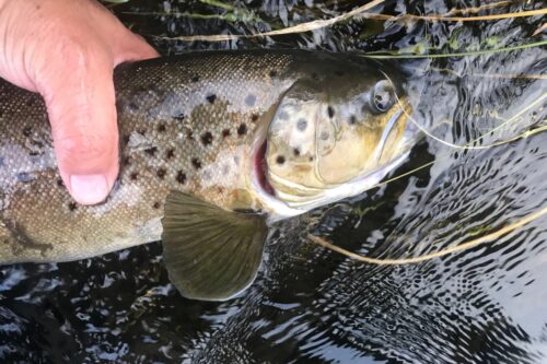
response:
<path id="1" fill-rule="evenodd" d="M 69 42 L 70 43 L 70 42 Z M 103 201 L 118 174 L 113 60 L 68 44 L 60 60 L 38 74 L 59 172 L 83 204 Z"/>

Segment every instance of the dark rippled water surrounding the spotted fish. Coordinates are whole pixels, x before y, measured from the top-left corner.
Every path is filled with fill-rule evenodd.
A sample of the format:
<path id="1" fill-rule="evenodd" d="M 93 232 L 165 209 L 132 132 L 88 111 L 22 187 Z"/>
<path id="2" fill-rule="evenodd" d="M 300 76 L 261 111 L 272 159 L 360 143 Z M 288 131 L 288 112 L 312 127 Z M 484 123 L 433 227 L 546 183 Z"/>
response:
<path id="1" fill-rule="evenodd" d="M 234 10 L 200 1 L 130 0 L 113 10 L 163 54 L 251 47 L 445 52 L 545 39 L 532 36 L 545 22 L 540 16 L 469 23 L 352 20 L 301 35 L 217 44 L 153 37 L 265 32 L 363 3 L 246 0 L 230 3 Z M 386 1 L 377 11 L 430 14 L 477 5 Z M 513 2 L 481 14 L 542 5 Z M 126 13 L 163 11 L 186 15 Z M 545 48 L 534 48 L 401 61 L 423 93 L 415 117 L 441 124 L 435 134 L 465 144 L 546 92 L 545 80 L 507 77 L 545 77 L 546 55 Z M 544 105 L 475 145 L 511 138 L 534 122 L 545 125 Z M 368 256 L 419 256 L 484 236 L 547 204 L 547 133 L 466 151 L 426 138 L 392 177 L 429 162 L 409 176 L 280 224 L 257 282 L 228 303 L 182 298 L 167 280 L 160 244 L 69 263 L 1 267 L 0 361 L 547 362 L 547 218 L 494 242 L 405 266 L 365 265 L 307 242 L 313 233 Z"/>

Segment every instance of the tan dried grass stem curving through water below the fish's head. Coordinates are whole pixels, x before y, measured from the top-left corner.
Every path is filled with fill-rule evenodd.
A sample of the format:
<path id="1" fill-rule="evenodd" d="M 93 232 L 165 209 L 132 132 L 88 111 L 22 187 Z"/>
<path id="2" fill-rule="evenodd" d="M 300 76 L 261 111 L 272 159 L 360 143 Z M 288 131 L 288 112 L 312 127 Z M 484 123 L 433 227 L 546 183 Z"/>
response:
<path id="1" fill-rule="evenodd" d="M 315 243 L 317 245 L 321 245 L 327 249 L 342 254 L 349 258 L 359 260 L 361 262 L 377 265 L 377 266 L 399 266 L 399 265 L 417 263 L 417 262 L 421 262 L 421 261 L 426 261 L 426 260 L 431 260 L 434 258 L 440 258 L 440 257 L 446 256 L 446 255 L 452 254 L 452 253 L 463 251 L 463 250 L 473 248 L 479 244 L 487 243 L 487 242 L 497 239 L 503 235 L 507 235 L 507 234 L 515 231 L 519 227 L 522 227 L 524 225 L 529 224 L 531 222 L 539 219 L 540 216 L 543 216 L 545 214 L 547 214 L 547 207 L 544 207 L 539 211 L 531 213 L 531 214 L 522 218 L 521 220 L 517 220 L 516 222 L 514 222 L 505 227 L 500 228 L 497 232 L 487 234 L 485 236 L 481 236 L 481 237 L 478 237 L 476 239 L 463 243 L 461 245 L 456 245 L 456 246 L 449 247 L 446 249 L 442 249 L 440 251 L 427 254 L 423 256 L 412 257 L 412 258 L 400 258 L 400 259 L 371 258 L 371 257 L 365 257 L 365 256 L 349 251 L 347 249 L 340 248 L 339 246 L 336 246 L 336 245 L 327 242 L 325 238 L 316 236 L 316 235 L 307 234 L 307 237 L 310 240 L 312 240 L 313 243 Z"/>

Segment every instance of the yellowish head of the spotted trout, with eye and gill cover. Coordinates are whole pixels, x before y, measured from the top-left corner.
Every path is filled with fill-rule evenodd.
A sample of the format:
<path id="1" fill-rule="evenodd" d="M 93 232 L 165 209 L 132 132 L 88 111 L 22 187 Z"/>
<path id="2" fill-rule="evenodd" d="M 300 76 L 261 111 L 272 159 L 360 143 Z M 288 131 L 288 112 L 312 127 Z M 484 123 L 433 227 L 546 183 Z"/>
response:
<path id="1" fill-rule="evenodd" d="M 403 83 L 380 70 L 299 81 L 258 153 L 264 200 L 287 216 L 371 188 L 408 152 L 409 113 Z"/>

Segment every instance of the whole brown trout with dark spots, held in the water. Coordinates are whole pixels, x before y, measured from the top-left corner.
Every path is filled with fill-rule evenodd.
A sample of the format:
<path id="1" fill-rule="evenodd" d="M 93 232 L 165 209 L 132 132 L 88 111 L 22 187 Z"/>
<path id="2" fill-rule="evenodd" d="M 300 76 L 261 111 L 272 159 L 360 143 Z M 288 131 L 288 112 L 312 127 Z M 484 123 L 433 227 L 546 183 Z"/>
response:
<path id="1" fill-rule="evenodd" d="M 354 55 L 198 51 L 115 70 L 120 172 L 79 206 L 42 97 L 0 80 L 0 263 L 78 260 L 162 240 L 182 295 L 255 280 L 271 223 L 354 196 L 416 141 L 404 78 Z"/>

